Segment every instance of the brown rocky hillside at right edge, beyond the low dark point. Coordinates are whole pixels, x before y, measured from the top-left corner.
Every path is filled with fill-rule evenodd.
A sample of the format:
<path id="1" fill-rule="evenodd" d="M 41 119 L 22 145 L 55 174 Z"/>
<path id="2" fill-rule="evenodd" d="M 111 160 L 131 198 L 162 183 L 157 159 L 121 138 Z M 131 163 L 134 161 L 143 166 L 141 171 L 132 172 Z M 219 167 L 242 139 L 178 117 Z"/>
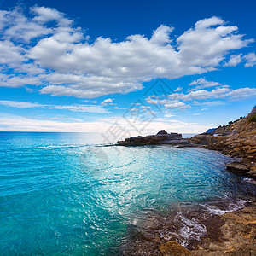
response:
<path id="1" fill-rule="evenodd" d="M 256 108 L 255 108 L 256 109 Z M 245 118 L 220 126 L 212 133 L 206 132 L 189 139 L 202 148 L 221 151 L 230 157 L 247 159 L 249 166 L 237 162 L 227 166 L 230 172 L 256 178 L 256 122 L 250 121 L 255 109 Z"/>

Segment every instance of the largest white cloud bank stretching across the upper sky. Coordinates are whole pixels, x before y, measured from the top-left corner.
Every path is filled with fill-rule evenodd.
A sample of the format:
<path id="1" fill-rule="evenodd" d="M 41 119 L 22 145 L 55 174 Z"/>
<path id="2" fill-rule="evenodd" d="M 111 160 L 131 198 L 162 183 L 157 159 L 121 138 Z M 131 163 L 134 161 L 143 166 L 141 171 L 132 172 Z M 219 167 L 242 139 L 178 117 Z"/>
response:
<path id="1" fill-rule="evenodd" d="M 20 9 L 0 12 L 0 64 L 6 75 L 19 78 L 2 85 L 40 85 L 42 94 L 52 96 L 128 93 L 156 77 L 206 73 L 220 67 L 232 50 L 253 42 L 236 26 L 212 17 L 197 21 L 178 37 L 171 37 L 173 27 L 161 25 L 151 38 L 130 35 L 113 42 L 99 37 L 89 44 L 89 36 L 58 10 L 35 6 L 31 15 L 26 17 Z"/>

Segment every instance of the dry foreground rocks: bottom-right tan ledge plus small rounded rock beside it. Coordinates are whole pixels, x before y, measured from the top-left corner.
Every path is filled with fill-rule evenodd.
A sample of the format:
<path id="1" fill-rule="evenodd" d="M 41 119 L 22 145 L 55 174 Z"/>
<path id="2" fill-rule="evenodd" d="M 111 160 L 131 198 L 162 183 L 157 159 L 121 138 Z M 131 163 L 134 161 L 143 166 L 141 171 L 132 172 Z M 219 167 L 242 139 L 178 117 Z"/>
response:
<path id="1" fill-rule="evenodd" d="M 164 256 L 256 255 L 256 203 L 236 212 L 218 215 L 216 218 L 220 225 L 212 227 L 212 231 L 201 238 L 195 250 L 189 251 L 176 241 L 167 241 L 160 245 L 160 253 Z"/>

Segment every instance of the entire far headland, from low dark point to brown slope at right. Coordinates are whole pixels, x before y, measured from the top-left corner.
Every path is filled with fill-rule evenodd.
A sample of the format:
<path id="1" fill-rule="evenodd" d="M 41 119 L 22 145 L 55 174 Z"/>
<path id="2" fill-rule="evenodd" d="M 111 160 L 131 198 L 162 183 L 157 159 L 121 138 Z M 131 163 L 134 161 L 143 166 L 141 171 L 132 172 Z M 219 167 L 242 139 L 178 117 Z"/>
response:
<path id="1" fill-rule="evenodd" d="M 119 146 L 171 145 L 177 147 L 200 147 L 217 150 L 232 158 L 240 158 L 227 165 L 227 170 L 238 175 L 256 179 L 256 107 L 247 117 L 229 125 L 210 129 L 202 134 L 184 139 L 182 134 L 159 131 L 155 135 L 137 136 L 118 141 Z"/>

